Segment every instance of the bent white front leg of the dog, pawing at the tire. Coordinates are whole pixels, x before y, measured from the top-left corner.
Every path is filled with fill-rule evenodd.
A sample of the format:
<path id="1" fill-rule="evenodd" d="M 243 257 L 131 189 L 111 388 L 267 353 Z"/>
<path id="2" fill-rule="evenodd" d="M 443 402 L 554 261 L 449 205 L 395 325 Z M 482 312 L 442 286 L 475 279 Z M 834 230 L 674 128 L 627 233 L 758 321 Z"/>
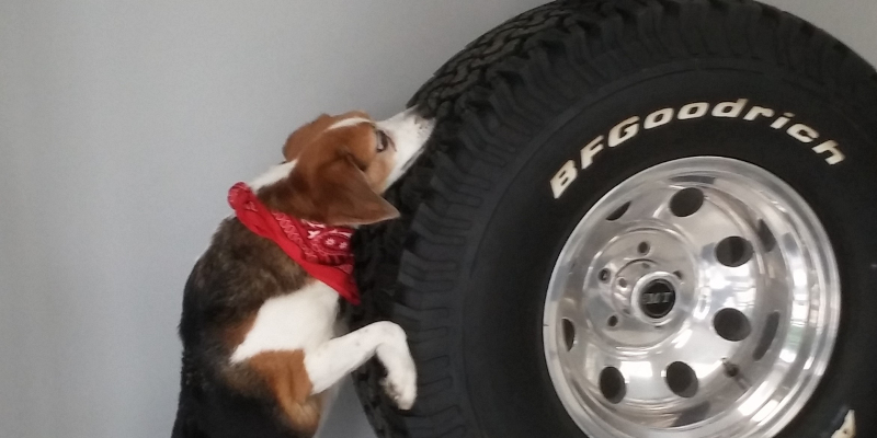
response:
<path id="1" fill-rule="evenodd" d="M 387 393 L 400 408 L 411 408 L 417 397 L 417 370 L 405 331 L 389 321 L 366 325 L 307 351 L 305 369 L 311 392 L 326 391 L 374 355 L 387 369 Z"/>

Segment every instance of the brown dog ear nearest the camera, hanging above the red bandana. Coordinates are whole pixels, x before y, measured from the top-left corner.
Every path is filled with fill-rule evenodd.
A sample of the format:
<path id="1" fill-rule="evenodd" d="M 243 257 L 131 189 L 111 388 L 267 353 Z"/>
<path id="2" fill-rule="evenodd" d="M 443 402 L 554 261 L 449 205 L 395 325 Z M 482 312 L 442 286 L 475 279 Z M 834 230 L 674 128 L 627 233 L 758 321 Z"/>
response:
<path id="1" fill-rule="evenodd" d="M 399 217 L 399 210 L 372 188 L 351 154 L 333 160 L 319 178 L 324 221 L 329 224 L 361 226 Z"/>

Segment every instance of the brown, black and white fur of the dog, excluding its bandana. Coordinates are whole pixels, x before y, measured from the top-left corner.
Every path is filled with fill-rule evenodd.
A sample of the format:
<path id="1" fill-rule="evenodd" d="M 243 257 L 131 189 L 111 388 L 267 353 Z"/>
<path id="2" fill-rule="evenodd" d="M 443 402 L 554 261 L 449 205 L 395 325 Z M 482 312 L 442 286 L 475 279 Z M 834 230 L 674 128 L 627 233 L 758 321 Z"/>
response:
<path id="1" fill-rule="evenodd" d="M 285 162 L 253 181 L 273 210 L 332 226 L 399 216 L 380 193 L 421 152 L 432 123 L 409 110 L 384 122 L 322 115 L 293 132 Z M 231 216 L 186 281 L 173 438 L 312 437 L 331 390 L 377 356 L 400 408 L 417 396 L 405 332 L 377 322 L 339 333 L 339 295 Z"/>

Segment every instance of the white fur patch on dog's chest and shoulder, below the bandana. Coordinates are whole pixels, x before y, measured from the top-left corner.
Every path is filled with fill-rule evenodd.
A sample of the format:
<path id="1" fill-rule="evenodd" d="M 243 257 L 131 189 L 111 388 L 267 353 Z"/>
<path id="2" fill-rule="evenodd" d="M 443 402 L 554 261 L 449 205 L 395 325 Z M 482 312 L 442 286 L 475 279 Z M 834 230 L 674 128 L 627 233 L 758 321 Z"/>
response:
<path id="1" fill-rule="evenodd" d="M 307 354 L 334 337 L 338 308 L 338 292 L 322 281 L 271 298 L 259 309 L 252 328 L 230 359 L 240 362 L 272 350 Z"/>

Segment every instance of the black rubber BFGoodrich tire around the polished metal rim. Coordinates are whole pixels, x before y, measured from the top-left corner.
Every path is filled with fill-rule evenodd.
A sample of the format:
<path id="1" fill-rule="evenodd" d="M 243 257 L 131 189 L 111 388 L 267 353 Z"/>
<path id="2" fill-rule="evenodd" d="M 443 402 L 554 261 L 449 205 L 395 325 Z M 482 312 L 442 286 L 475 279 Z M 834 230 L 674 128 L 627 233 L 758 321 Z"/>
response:
<path id="1" fill-rule="evenodd" d="M 355 373 L 380 437 L 588 436 L 546 359 L 558 257 L 613 188 L 705 157 L 781 181 L 830 241 L 811 251 L 836 261 L 827 368 L 771 434 L 830 437 L 854 412 L 857 435 L 877 436 L 877 73 L 847 47 L 753 1 L 556 1 L 468 45 L 410 104 L 437 126 L 387 192 L 402 217 L 354 238 L 350 321 L 399 323 L 419 370 L 410 412 L 376 361 Z"/>

